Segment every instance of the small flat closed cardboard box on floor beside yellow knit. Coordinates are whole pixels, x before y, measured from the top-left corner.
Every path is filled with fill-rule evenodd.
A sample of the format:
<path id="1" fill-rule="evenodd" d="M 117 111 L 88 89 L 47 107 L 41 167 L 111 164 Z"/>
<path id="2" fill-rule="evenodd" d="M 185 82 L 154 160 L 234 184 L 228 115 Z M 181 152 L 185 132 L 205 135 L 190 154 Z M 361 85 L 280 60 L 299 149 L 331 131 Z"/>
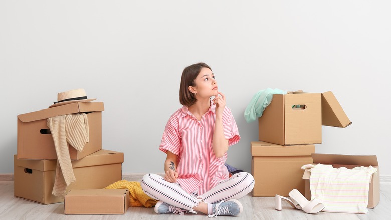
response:
<path id="1" fill-rule="evenodd" d="M 72 189 L 65 195 L 65 214 L 125 214 L 128 189 Z"/>

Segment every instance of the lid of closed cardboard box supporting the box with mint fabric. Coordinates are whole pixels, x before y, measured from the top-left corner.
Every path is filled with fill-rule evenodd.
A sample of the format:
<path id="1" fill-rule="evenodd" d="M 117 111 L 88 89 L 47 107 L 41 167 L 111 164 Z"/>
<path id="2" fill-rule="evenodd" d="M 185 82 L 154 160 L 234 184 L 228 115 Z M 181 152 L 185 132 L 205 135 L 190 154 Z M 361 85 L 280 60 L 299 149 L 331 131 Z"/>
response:
<path id="1" fill-rule="evenodd" d="M 314 152 L 313 144 L 283 146 L 264 141 L 251 142 L 252 156 L 311 156 Z"/>

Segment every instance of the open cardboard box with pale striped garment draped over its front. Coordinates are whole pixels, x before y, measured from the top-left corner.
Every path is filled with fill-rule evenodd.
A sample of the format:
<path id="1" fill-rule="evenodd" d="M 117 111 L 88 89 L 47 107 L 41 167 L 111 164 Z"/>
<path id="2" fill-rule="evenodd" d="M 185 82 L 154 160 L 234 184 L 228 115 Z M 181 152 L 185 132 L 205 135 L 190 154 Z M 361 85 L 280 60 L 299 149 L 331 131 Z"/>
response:
<path id="1" fill-rule="evenodd" d="M 372 166 L 377 169 L 377 175 L 372 174 L 369 184 L 368 208 L 374 208 L 380 201 L 380 169 L 376 155 L 341 155 L 341 154 L 312 154 L 314 164 L 331 164 L 334 168 L 346 167 L 352 169 L 357 166 Z M 311 172 L 304 170 L 305 197 L 311 200 L 311 190 L 309 178 Z M 303 193 L 304 195 L 304 193 Z"/>

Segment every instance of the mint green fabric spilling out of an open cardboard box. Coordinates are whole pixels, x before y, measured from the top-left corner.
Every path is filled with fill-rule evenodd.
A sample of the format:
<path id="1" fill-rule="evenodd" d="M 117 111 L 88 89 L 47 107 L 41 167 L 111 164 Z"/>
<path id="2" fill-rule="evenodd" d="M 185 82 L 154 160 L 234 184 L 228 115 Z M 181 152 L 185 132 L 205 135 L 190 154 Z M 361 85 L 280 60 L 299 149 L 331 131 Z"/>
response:
<path id="1" fill-rule="evenodd" d="M 247 105 L 247 108 L 244 112 L 245 119 L 248 123 L 254 122 L 257 118 L 262 116 L 265 108 L 270 104 L 273 99 L 274 94 L 286 94 L 286 91 L 280 89 L 271 89 L 267 88 L 264 90 L 258 91 L 250 103 Z"/>

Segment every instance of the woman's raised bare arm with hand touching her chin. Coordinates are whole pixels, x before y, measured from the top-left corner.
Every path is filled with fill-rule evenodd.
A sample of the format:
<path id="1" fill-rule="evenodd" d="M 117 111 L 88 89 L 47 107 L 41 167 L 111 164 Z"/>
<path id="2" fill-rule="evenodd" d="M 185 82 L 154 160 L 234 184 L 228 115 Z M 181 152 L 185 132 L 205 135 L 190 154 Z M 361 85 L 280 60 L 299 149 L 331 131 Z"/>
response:
<path id="1" fill-rule="evenodd" d="M 216 104 L 215 131 L 213 132 L 212 149 L 217 158 L 223 157 L 228 151 L 228 140 L 224 137 L 223 131 L 223 111 L 226 106 L 226 98 L 223 93 L 215 96 L 212 100 Z"/>

